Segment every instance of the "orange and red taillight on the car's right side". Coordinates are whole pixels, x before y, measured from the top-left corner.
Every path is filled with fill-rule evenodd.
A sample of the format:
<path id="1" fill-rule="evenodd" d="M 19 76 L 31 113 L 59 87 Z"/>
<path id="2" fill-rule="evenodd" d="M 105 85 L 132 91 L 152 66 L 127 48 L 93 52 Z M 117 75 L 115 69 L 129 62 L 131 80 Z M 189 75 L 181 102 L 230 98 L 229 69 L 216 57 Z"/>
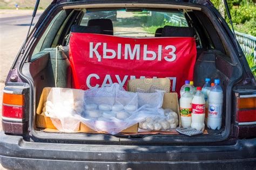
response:
<path id="1" fill-rule="evenodd" d="M 256 124 L 256 95 L 237 97 L 237 122 L 239 125 Z"/>

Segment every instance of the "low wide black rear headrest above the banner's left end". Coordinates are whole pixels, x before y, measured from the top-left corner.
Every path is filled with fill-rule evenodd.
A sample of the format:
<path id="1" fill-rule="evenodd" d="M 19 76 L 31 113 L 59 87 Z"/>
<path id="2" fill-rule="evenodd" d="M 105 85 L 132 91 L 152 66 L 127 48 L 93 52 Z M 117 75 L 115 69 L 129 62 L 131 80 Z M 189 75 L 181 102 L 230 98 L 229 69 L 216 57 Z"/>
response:
<path id="1" fill-rule="evenodd" d="M 78 32 L 78 33 L 95 33 L 101 34 L 102 30 L 100 26 L 80 26 L 80 25 L 72 25 L 71 32 Z"/>

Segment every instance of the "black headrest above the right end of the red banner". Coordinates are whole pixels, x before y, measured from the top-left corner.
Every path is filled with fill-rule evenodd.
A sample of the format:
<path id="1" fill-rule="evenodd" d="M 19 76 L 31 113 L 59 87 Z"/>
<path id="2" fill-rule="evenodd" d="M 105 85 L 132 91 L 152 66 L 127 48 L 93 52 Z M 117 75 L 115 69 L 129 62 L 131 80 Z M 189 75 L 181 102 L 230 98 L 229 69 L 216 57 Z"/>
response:
<path id="1" fill-rule="evenodd" d="M 194 37 L 194 29 L 192 27 L 181 26 L 164 26 L 162 37 Z"/>

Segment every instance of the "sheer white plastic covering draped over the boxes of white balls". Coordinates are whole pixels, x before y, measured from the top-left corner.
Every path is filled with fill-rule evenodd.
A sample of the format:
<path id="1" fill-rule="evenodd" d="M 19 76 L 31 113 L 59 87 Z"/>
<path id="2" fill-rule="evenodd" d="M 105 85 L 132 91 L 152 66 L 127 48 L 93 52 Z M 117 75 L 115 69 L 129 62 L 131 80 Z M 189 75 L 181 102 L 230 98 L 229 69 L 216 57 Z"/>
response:
<path id="1" fill-rule="evenodd" d="M 119 84 L 89 90 L 52 88 L 47 99 L 59 131 L 77 131 L 80 122 L 98 132 L 116 134 L 147 117 L 164 116 L 163 93 L 132 93 Z"/>

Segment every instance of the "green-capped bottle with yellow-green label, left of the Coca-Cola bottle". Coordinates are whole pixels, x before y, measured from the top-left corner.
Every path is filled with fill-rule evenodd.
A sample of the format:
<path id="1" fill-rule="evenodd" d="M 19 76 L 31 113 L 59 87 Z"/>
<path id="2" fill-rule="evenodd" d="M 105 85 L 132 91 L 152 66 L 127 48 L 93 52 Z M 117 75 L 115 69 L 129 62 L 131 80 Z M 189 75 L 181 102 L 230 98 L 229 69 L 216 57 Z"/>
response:
<path id="1" fill-rule="evenodd" d="M 191 111 L 192 111 L 193 96 L 190 93 L 190 88 L 185 87 L 185 93 L 180 97 L 180 119 L 181 126 L 187 128 L 191 126 Z"/>

